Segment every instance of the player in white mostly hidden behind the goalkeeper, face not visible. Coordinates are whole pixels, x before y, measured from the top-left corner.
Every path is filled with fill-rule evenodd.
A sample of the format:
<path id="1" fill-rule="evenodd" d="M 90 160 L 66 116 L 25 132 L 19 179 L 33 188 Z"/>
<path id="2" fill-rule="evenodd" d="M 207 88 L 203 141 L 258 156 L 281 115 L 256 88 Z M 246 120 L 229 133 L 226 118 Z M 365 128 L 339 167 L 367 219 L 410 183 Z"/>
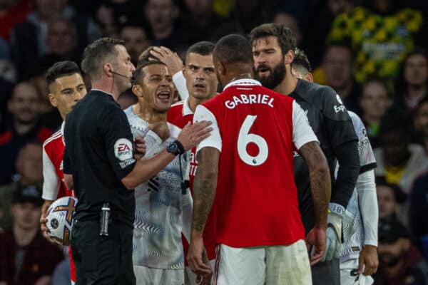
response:
<path id="1" fill-rule="evenodd" d="M 300 79 L 312 82 L 310 62 L 303 51 L 295 50 L 292 71 Z M 348 111 L 358 135 L 360 175 L 354 193 L 343 216 L 342 254 L 340 256 L 340 284 L 373 284 L 370 275 L 377 271 L 377 222 L 378 207 L 374 168 L 376 160 L 362 120 Z M 361 275 L 362 274 L 362 275 Z"/>

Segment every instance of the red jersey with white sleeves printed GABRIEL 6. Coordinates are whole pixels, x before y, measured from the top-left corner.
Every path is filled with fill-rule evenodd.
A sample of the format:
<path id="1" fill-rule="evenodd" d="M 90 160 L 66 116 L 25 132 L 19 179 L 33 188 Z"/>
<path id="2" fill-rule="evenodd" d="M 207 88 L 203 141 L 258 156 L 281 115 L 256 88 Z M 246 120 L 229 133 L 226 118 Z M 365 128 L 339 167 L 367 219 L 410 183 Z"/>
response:
<path id="1" fill-rule="evenodd" d="M 217 242 L 230 247 L 292 244 L 305 238 L 293 148 L 317 137 L 295 101 L 253 79 L 228 84 L 196 108 L 213 131 L 200 145 L 220 150 L 215 193 Z"/>

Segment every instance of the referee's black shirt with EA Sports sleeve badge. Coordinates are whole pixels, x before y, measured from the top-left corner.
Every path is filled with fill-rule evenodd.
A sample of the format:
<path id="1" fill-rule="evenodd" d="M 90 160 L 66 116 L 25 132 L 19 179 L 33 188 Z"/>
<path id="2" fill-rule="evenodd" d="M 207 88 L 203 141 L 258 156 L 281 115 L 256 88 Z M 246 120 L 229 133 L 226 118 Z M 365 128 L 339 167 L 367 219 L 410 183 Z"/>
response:
<path id="1" fill-rule="evenodd" d="M 99 219 L 111 204 L 111 217 L 133 227 L 133 191 L 121 179 L 133 170 L 133 136 L 125 113 L 111 94 L 91 90 L 73 108 L 64 128 L 64 172 L 73 175 L 76 219 Z"/>

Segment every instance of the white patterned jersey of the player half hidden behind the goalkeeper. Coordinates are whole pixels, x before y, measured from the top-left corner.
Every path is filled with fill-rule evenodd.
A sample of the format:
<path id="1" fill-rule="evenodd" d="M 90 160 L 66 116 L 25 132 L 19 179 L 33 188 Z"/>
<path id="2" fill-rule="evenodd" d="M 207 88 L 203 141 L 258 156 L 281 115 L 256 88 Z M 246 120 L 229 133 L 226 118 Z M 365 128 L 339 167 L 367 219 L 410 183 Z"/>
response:
<path id="1" fill-rule="evenodd" d="M 355 114 L 348 111 L 358 136 L 358 153 L 360 155 L 360 174 L 376 167 L 376 160 L 372 150 L 372 145 L 367 138 L 367 132 L 362 120 Z M 337 170 L 336 170 L 337 171 Z M 364 211 L 364 205 L 360 204 L 357 188 L 347 205 L 342 221 L 343 239 L 341 261 L 358 258 L 362 249 L 365 233 L 362 224 L 360 210 Z"/>

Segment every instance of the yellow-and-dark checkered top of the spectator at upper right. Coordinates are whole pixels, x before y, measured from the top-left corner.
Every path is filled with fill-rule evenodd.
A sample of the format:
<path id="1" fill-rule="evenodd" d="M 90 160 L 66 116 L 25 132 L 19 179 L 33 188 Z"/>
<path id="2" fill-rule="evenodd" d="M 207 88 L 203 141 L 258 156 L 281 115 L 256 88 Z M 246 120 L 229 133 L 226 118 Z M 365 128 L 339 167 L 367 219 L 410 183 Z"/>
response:
<path id="1" fill-rule="evenodd" d="M 424 33 L 420 11 L 398 9 L 394 0 L 367 1 L 333 21 L 327 43 L 347 43 L 355 52 L 357 82 L 381 76 L 392 88 L 404 55 L 414 47 L 418 33 Z"/>

